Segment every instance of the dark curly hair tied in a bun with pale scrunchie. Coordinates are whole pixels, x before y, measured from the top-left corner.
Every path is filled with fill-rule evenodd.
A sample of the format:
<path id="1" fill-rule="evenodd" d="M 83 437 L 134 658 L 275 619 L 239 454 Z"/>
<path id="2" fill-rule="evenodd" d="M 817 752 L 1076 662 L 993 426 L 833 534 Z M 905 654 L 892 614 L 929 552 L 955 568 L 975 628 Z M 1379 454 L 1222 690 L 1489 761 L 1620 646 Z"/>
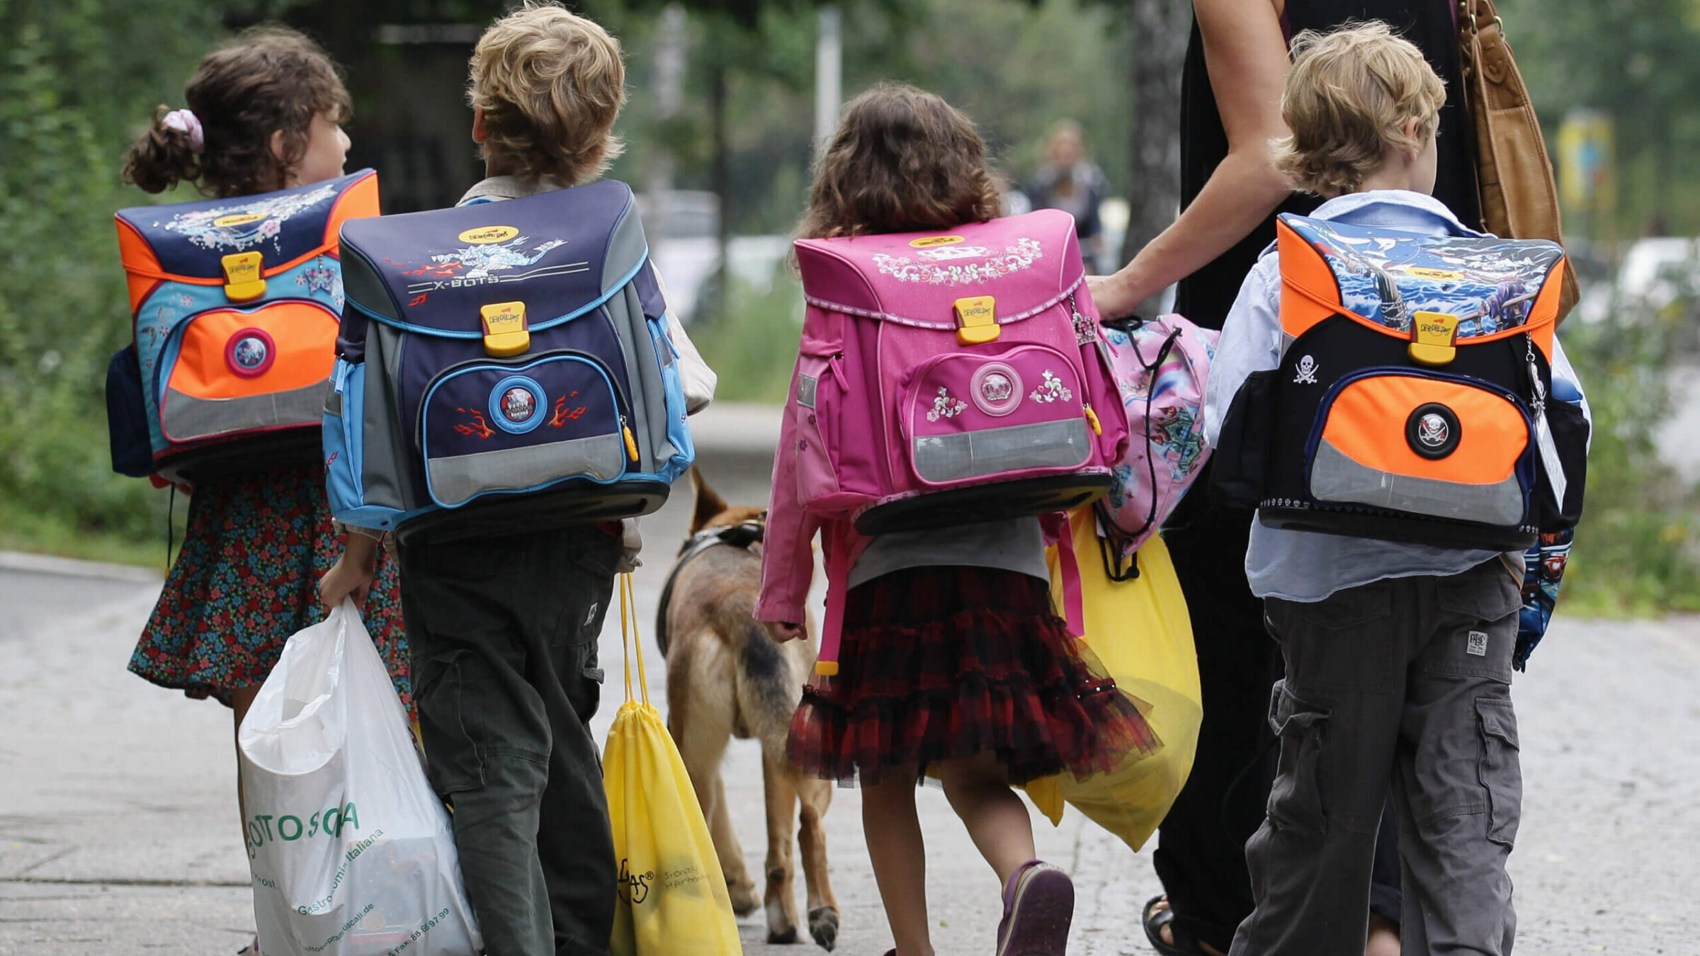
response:
<path id="1" fill-rule="evenodd" d="M 124 156 L 122 179 L 144 192 L 192 182 L 228 199 L 282 189 L 308 148 L 313 117 L 347 122 L 354 112 L 342 71 L 323 49 L 289 27 L 255 27 L 209 53 L 184 100 L 201 121 L 206 148 L 189 148 L 189 134 L 163 124 L 167 107 Z M 282 131 L 284 155 L 272 151 Z"/>

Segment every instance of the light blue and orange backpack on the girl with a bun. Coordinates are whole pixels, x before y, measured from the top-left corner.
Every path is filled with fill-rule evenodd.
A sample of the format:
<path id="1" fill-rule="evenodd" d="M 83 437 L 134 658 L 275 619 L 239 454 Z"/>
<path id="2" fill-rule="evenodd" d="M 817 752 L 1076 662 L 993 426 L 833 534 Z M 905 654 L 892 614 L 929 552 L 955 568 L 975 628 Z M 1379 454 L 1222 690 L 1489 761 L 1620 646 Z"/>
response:
<path id="1" fill-rule="evenodd" d="M 372 170 L 121 209 L 134 342 L 107 371 L 114 471 L 194 480 L 318 461 L 338 231 L 376 214 Z"/>

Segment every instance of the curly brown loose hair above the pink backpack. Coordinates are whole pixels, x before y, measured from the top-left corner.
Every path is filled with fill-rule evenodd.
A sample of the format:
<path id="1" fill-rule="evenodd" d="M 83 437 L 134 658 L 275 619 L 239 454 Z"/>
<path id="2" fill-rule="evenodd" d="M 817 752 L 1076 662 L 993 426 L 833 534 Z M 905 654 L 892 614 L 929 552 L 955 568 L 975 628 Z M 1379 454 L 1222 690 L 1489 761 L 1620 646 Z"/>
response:
<path id="1" fill-rule="evenodd" d="M 845 105 L 809 189 L 802 238 L 949 230 L 1000 214 L 1000 182 L 974 121 L 908 83 Z"/>

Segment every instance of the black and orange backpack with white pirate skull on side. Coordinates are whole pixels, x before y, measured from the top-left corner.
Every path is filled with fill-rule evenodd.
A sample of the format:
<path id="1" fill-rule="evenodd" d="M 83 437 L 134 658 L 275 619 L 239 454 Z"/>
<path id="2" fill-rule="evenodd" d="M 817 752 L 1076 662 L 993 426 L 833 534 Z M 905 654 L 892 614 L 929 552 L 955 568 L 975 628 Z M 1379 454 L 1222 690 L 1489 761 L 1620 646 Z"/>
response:
<path id="1" fill-rule="evenodd" d="M 1234 396 L 1216 492 L 1268 527 L 1523 551 L 1574 527 L 1588 424 L 1552 396 L 1552 242 L 1284 214 L 1280 366 Z"/>

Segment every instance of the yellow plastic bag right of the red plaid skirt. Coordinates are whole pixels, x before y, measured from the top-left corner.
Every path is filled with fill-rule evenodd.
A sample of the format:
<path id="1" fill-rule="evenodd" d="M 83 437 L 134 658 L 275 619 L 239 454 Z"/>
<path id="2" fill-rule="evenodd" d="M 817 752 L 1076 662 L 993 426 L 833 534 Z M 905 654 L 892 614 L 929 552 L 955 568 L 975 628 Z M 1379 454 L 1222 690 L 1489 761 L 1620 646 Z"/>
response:
<path id="1" fill-rule="evenodd" d="M 1163 748 L 1149 757 L 1129 755 L 1108 774 L 1076 781 L 1057 774 L 1027 784 L 1027 796 L 1052 823 L 1062 820 L 1062 801 L 1139 849 L 1158 828 L 1180 794 L 1198 747 L 1204 704 L 1198 692 L 1198 657 L 1192 646 L 1187 599 L 1175 577 L 1163 538 L 1139 548 L 1139 577 L 1114 582 L 1098 560 L 1098 529 L 1091 509 L 1069 515 L 1085 604 L 1086 645 L 1134 697 L 1151 704 L 1146 721 Z M 1062 580 L 1056 548 L 1051 549 L 1051 592 L 1062 606 Z"/>

